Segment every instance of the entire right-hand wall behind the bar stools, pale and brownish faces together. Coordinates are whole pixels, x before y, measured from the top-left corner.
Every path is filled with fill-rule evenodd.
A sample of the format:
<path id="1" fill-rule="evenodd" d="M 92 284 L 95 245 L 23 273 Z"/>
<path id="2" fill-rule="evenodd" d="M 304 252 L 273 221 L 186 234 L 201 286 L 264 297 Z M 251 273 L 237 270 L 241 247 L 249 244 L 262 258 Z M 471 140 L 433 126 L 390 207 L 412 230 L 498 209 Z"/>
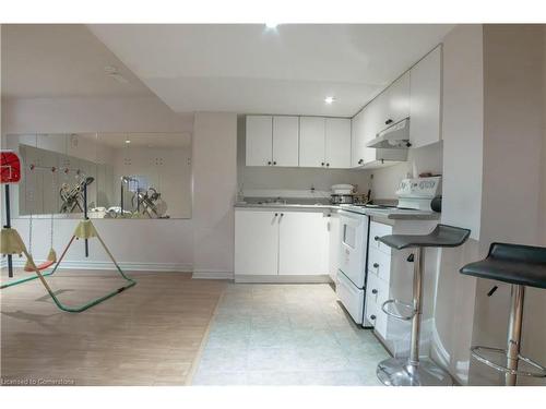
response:
<path id="1" fill-rule="evenodd" d="M 510 292 L 459 269 L 483 258 L 491 241 L 541 243 L 544 50 L 539 26 L 460 25 L 444 38 L 442 222 L 473 233 L 441 252 L 431 354 L 463 384 L 501 384 L 468 349 L 506 347 Z M 538 360 L 546 357 L 543 311 L 545 291 L 527 289 L 522 349 Z"/>

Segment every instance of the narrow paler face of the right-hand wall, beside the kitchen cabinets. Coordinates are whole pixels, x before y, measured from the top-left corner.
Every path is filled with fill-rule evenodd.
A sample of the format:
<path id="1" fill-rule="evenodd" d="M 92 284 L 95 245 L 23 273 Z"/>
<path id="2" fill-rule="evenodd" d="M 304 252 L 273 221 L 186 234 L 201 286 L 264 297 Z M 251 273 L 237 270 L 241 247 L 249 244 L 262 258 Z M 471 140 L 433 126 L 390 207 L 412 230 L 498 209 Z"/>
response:
<path id="1" fill-rule="evenodd" d="M 482 213 L 483 28 L 459 25 L 443 40 L 443 189 L 441 221 L 472 230 L 440 252 L 431 356 L 465 384 L 476 280 L 459 268 L 478 260 Z"/>

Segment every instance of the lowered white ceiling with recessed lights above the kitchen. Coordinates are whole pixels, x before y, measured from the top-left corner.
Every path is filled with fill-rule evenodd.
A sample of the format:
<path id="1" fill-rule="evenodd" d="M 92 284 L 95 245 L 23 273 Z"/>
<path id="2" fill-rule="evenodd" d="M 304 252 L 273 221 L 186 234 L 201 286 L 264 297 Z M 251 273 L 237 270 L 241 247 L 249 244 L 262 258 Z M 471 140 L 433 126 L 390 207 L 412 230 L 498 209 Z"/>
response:
<path id="1" fill-rule="evenodd" d="M 452 27 L 90 25 L 175 111 L 324 116 L 356 113 Z"/>

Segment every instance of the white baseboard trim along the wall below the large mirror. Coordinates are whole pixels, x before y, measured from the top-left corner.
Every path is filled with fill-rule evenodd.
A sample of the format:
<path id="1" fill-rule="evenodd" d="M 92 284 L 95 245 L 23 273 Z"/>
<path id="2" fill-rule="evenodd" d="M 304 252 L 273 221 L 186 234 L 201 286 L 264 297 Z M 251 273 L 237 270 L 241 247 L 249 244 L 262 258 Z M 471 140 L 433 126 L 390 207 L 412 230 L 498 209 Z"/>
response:
<path id="1" fill-rule="evenodd" d="M 13 266 L 16 268 L 24 267 L 25 257 L 13 257 Z M 36 264 L 43 263 L 45 260 L 35 260 Z M 157 272 L 157 273 L 191 273 L 193 266 L 190 263 L 130 263 L 118 262 L 122 270 L 126 272 Z M 7 258 L 2 258 L 1 268 L 8 267 Z M 93 262 L 93 261 L 63 261 L 59 265 L 59 269 L 104 269 L 114 270 L 116 267 L 112 262 Z"/>

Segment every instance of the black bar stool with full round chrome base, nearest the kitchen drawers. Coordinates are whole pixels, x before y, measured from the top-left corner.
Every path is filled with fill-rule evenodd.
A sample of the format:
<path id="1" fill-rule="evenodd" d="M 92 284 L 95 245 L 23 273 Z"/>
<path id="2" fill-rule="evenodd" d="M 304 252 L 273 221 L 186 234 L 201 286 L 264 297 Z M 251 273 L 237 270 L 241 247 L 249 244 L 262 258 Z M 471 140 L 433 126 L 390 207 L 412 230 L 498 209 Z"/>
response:
<path id="1" fill-rule="evenodd" d="M 377 376 L 384 385 L 392 386 L 441 386 L 452 385 L 451 376 L 431 361 L 419 361 L 419 335 L 423 314 L 423 249 L 455 248 L 463 244 L 471 231 L 459 227 L 438 225 L 429 234 L 391 234 L 379 238 L 382 243 L 396 249 L 417 249 L 413 254 L 413 302 L 406 304 L 399 300 L 387 300 L 381 305 L 383 312 L 399 320 L 412 321 L 410 358 L 390 358 L 377 366 Z M 408 258 L 412 261 L 412 257 Z M 388 305 L 395 304 L 410 309 L 408 315 L 390 312 Z"/>

